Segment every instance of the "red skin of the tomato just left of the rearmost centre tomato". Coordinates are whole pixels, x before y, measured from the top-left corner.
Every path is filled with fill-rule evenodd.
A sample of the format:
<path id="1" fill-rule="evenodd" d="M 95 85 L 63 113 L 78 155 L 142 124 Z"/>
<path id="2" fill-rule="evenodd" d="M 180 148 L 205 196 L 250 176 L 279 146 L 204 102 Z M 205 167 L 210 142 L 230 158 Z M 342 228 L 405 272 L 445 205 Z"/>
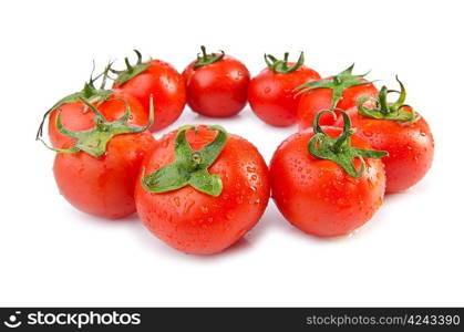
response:
<path id="1" fill-rule="evenodd" d="M 149 95 L 153 94 L 155 122 L 152 132 L 174 123 L 184 111 L 187 101 L 185 80 L 169 63 L 153 60 L 152 65 L 121 87 L 135 96 L 149 114 Z"/>

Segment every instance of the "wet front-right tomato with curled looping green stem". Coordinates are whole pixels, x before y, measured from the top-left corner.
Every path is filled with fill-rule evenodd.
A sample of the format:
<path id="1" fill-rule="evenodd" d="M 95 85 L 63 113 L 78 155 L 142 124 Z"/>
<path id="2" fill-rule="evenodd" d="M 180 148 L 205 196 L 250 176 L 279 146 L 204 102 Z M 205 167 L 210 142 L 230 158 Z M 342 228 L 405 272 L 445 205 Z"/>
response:
<path id="1" fill-rule="evenodd" d="M 385 153 L 371 151 L 341 114 L 343 129 L 316 124 L 313 132 L 293 134 L 270 163 L 277 207 L 290 224 L 313 236 L 352 232 L 374 215 L 385 191 L 383 164 L 378 159 Z"/>

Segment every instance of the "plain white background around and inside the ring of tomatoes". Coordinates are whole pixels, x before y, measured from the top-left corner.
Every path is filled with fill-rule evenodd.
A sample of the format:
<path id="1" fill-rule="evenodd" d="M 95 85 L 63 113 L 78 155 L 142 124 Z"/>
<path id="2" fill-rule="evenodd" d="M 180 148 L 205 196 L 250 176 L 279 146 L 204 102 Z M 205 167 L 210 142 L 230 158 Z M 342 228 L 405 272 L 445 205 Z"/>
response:
<path id="1" fill-rule="evenodd" d="M 0 4 L 1 305 L 464 305 L 464 54 L 461 1 L 2 1 Z M 262 54 L 306 51 L 322 76 L 352 62 L 406 84 L 430 122 L 434 165 L 386 197 L 351 237 L 322 240 L 269 204 L 258 226 L 213 257 L 177 252 L 133 216 L 89 217 L 58 193 L 54 154 L 34 142 L 42 113 L 137 48 L 182 71 L 200 44 L 252 75 Z M 224 121 L 188 108 L 168 129 L 220 123 L 267 160 L 296 128 L 247 107 Z"/>

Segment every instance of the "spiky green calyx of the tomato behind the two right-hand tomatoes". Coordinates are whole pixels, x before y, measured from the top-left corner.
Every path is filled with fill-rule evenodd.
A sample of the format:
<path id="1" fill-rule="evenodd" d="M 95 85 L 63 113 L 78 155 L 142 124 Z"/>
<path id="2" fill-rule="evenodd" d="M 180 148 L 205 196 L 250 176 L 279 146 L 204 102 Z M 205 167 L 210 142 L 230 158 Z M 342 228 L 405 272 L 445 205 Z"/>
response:
<path id="1" fill-rule="evenodd" d="M 364 77 L 367 74 L 369 74 L 369 72 L 362 75 L 353 75 L 352 74 L 353 68 L 354 68 L 354 63 L 331 79 L 311 81 L 311 82 L 301 84 L 300 86 L 295 89 L 295 91 L 298 91 L 298 93 L 295 96 L 306 93 L 308 91 L 315 90 L 315 89 L 321 89 L 321 87 L 331 89 L 332 103 L 330 107 L 334 108 L 337 106 L 337 103 L 340 101 L 341 95 L 346 89 L 372 83 L 370 81 L 360 80 Z"/>

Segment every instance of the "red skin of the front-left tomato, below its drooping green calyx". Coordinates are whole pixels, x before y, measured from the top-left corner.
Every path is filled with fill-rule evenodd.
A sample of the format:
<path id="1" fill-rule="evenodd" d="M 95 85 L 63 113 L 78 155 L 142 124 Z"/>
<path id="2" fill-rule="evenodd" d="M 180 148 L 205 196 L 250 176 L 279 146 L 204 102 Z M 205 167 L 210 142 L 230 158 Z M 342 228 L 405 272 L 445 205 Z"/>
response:
<path id="1" fill-rule="evenodd" d="M 61 195 L 76 209 L 120 219 L 135 211 L 134 187 L 142 160 L 155 146 L 149 132 L 113 137 L 106 154 L 58 153 L 53 173 Z"/>

